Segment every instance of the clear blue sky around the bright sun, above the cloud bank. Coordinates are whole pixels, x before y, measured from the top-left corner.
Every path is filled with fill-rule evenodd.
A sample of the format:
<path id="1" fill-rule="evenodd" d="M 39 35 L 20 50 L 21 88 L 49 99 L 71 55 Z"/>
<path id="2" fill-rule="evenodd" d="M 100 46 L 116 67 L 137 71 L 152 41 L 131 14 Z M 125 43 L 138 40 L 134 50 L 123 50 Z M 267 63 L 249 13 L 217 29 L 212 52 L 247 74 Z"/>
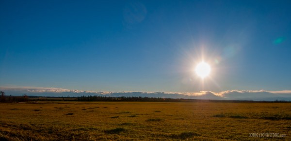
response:
<path id="1" fill-rule="evenodd" d="M 291 0 L 1 0 L 0 86 L 291 89 Z M 201 61 L 210 76 L 194 73 Z"/>

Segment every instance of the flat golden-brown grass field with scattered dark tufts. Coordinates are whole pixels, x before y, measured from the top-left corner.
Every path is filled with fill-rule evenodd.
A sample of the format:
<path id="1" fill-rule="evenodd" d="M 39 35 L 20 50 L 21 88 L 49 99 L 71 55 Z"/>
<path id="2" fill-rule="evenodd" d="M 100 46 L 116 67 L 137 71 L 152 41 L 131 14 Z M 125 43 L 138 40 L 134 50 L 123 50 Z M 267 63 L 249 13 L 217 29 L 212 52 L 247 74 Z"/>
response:
<path id="1" fill-rule="evenodd" d="M 291 103 L 0 103 L 0 140 L 291 141 Z"/>

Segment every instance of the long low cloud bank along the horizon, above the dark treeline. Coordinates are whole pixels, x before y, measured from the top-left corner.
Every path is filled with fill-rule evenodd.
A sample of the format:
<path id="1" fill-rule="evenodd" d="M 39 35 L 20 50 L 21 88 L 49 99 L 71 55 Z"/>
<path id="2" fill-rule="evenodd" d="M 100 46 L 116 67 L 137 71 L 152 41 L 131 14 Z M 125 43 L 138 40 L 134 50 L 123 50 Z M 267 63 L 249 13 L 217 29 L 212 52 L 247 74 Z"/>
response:
<path id="1" fill-rule="evenodd" d="M 283 91 L 238 91 L 230 90 L 219 93 L 201 91 L 197 93 L 175 93 L 175 92 L 95 92 L 68 90 L 62 88 L 44 87 L 0 87 L 6 95 L 35 95 L 35 96 L 141 96 L 141 97 L 162 97 L 162 98 L 190 98 L 190 99 L 213 99 L 213 100 L 286 100 L 291 101 L 291 90 Z"/>

